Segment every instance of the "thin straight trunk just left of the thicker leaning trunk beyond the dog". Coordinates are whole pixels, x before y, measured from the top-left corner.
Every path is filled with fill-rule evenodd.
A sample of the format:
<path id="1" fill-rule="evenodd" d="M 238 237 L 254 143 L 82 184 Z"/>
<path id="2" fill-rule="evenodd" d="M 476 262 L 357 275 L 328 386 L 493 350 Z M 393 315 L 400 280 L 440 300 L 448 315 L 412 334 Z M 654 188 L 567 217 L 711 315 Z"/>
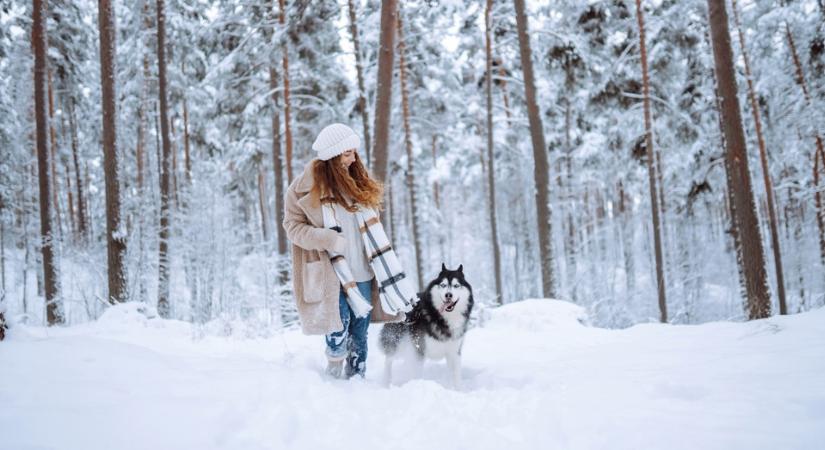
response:
<path id="1" fill-rule="evenodd" d="M 501 250 L 498 243 L 498 229 L 496 220 L 496 177 L 495 177 L 495 157 L 493 156 L 493 0 L 487 0 L 484 10 L 484 38 L 486 61 L 487 83 L 485 91 L 487 95 L 487 160 L 490 167 L 487 171 L 488 206 L 490 211 L 490 244 L 493 247 L 493 271 L 496 282 L 496 301 L 499 305 L 504 303 L 504 296 L 501 292 Z"/>

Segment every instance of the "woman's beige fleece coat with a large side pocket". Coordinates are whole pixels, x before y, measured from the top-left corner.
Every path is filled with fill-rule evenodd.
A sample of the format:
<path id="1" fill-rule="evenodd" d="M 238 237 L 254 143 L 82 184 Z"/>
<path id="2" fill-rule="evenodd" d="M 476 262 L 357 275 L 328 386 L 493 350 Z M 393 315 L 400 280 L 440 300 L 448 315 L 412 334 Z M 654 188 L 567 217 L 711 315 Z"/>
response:
<path id="1" fill-rule="evenodd" d="M 338 236 L 324 228 L 321 202 L 311 192 L 312 165 L 292 181 L 286 191 L 284 230 L 292 242 L 292 288 L 304 334 L 329 334 L 341 331 L 338 295 L 341 282 L 332 268 L 327 250 L 334 247 Z M 386 314 L 381 309 L 378 283 L 372 279 L 372 313 L 370 322 L 396 322 L 404 319 Z"/>

